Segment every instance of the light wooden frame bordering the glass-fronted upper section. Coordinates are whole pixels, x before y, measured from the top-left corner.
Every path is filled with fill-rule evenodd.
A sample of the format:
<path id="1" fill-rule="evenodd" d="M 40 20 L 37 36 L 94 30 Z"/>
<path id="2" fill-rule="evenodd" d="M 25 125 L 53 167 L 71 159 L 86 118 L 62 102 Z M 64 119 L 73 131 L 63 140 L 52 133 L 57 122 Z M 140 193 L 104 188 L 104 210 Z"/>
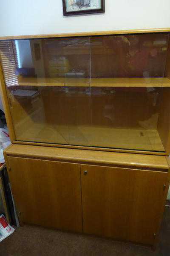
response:
<path id="1" fill-rule="evenodd" d="M 159 32 L 170 32 L 170 28 L 164 29 L 141 29 L 141 30 L 118 30 L 118 31 L 106 31 L 106 32 L 85 32 L 85 33 L 74 33 L 74 34 L 56 34 L 56 35 L 28 35 L 28 36 L 13 36 L 13 37 L 1 37 L 0 40 L 9 39 L 24 39 L 24 38 L 60 38 L 60 37 L 74 37 L 74 36 L 87 36 L 87 35 L 119 35 L 119 34 L 139 34 L 139 33 L 159 33 Z M 169 65 L 167 70 L 169 78 Z M 52 143 L 38 143 L 38 142 L 28 142 L 28 141 L 17 141 L 14 133 L 14 127 L 10 112 L 10 103 L 8 102 L 6 86 L 3 78 L 2 68 L 0 67 L 0 89 L 2 94 L 3 106 L 5 109 L 7 125 L 10 133 L 10 139 L 12 143 L 15 144 L 28 144 L 28 145 L 40 145 L 48 147 L 62 147 L 62 148 L 77 148 L 85 150 L 101 150 L 101 151 L 111 151 L 111 152 L 125 152 L 125 153 L 142 153 L 150 155 L 164 155 L 168 156 L 170 153 L 170 143 L 167 144 L 165 152 L 157 151 L 145 151 L 145 150 L 128 150 L 128 149 L 115 149 L 115 148 L 102 148 L 102 147 L 87 147 L 87 146 L 74 146 L 65 144 L 52 144 Z M 166 87 L 166 85 L 165 85 Z M 170 140 L 170 134 L 168 135 L 168 141 Z"/>

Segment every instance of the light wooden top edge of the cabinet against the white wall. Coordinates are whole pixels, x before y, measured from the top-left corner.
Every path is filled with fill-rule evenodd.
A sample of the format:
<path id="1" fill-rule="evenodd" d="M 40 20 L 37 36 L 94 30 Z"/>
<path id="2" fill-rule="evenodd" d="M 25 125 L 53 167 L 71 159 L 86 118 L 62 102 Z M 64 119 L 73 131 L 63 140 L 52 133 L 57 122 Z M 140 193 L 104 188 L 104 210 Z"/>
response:
<path id="1" fill-rule="evenodd" d="M 42 35 L 15 35 L 15 36 L 1 36 L 0 40 L 31 39 L 31 38 L 57 38 L 57 37 L 74 37 L 74 36 L 93 36 L 93 35 L 123 35 L 123 34 L 160 33 L 160 32 L 170 32 L 170 28 L 129 29 L 129 30 L 98 31 L 98 32 L 47 34 L 47 35 L 43 35 L 43 34 Z"/>

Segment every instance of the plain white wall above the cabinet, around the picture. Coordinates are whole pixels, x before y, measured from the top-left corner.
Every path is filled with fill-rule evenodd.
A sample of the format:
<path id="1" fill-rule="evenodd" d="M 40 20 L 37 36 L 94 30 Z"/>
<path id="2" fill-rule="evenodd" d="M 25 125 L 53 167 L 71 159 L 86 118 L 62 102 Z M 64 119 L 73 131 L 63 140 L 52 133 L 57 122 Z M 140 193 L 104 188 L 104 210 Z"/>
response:
<path id="1" fill-rule="evenodd" d="M 170 27 L 170 0 L 105 0 L 105 14 L 63 17 L 62 0 L 0 0 L 0 36 Z"/>

